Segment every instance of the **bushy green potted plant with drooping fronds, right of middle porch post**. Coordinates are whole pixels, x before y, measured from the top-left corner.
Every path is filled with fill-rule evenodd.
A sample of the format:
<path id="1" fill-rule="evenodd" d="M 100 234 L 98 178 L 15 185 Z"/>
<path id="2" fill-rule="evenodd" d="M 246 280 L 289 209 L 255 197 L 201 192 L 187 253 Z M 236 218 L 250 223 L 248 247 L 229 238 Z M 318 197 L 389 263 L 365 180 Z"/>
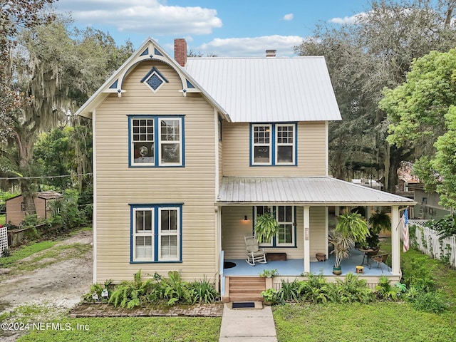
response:
<path id="1" fill-rule="evenodd" d="M 336 229 L 329 235 L 329 243 L 333 244 L 333 253 L 336 261 L 333 266 L 333 274 L 342 274 L 341 261 L 350 257 L 350 249 L 355 242 L 366 242 L 369 235 L 367 222 L 361 214 L 351 212 L 338 217 Z"/>

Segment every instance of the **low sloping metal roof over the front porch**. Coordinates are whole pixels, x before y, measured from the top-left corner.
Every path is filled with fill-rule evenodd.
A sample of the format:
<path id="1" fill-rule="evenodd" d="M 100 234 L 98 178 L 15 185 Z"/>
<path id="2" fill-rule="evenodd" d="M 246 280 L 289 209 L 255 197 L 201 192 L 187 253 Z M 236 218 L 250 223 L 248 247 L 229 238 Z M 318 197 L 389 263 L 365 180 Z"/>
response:
<path id="1" fill-rule="evenodd" d="M 223 177 L 217 204 L 415 205 L 413 199 L 332 177 Z"/>

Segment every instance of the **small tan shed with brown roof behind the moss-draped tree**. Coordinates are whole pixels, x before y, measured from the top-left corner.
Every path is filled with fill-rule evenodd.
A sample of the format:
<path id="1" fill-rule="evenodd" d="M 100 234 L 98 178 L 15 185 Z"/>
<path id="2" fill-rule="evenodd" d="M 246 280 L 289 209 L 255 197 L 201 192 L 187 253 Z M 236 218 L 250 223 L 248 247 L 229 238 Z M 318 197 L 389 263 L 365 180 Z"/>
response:
<path id="1" fill-rule="evenodd" d="M 36 192 L 35 208 L 38 218 L 48 219 L 51 217 L 51 209 L 49 203 L 62 198 L 63 195 L 55 191 Z M 26 208 L 24 208 L 24 198 L 22 195 L 6 199 L 6 223 L 11 223 L 18 226 L 26 216 Z"/>

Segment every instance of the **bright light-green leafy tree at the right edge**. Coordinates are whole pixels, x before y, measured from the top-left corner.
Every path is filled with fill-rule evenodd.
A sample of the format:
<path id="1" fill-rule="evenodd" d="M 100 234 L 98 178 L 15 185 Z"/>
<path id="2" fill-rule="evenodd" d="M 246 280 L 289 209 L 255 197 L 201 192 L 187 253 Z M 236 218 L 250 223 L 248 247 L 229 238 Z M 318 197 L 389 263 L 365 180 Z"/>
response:
<path id="1" fill-rule="evenodd" d="M 440 204 L 456 207 L 456 49 L 432 51 L 412 64 L 405 83 L 384 90 L 388 141 L 421 156 L 414 172 Z"/>

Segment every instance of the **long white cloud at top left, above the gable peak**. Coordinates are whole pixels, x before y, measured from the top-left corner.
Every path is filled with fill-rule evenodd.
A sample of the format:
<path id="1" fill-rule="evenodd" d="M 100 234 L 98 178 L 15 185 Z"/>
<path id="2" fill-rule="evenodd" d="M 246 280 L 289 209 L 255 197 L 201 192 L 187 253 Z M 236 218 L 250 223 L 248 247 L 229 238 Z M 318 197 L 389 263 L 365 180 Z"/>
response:
<path id="1" fill-rule="evenodd" d="M 60 0 L 59 11 L 88 26 L 115 26 L 120 32 L 145 36 L 202 35 L 222 27 L 217 10 L 199 6 L 167 6 L 158 0 Z"/>

